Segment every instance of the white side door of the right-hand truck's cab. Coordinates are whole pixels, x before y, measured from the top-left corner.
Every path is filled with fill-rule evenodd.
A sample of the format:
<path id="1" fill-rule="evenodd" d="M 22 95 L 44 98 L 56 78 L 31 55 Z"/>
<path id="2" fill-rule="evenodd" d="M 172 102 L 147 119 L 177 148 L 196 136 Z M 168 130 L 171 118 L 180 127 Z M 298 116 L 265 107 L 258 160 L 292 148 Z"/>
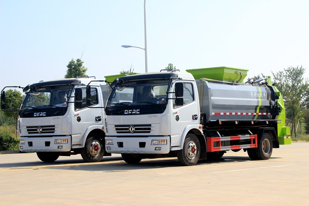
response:
<path id="1" fill-rule="evenodd" d="M 173 93 L 173 104 L 171 105 L 171 146 L 180 146 L 181 136 L 189 124 L 199 124 L 198 95 L 193 82 L 183 82 L 184 105 L 175 105 L 175 93 Z M 175 92 L 175 84 L 173 92 Z"/>

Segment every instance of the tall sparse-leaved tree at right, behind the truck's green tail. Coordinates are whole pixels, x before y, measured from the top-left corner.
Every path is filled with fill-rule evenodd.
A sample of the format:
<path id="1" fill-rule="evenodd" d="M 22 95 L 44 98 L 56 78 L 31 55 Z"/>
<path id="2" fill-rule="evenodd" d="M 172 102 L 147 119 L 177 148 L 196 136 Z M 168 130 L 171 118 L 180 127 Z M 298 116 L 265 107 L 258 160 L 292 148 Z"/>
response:
<path id="1" fill-rule="evenodd" d="M 298 119 L 301 116 L 301 105 L 306 100 L 306 93 L 308 91 L 308 79 L 303 78 L 305 68 L 300 67 L 288 67 L 279 71 L 274 76 L 274 84 L 282 94 L 284 104 L 286 107 L 286 114 L 294 121 L 292 126 L 292 133 L 294 129 L 294 137 L 296 138 L 296 125 Z"/>

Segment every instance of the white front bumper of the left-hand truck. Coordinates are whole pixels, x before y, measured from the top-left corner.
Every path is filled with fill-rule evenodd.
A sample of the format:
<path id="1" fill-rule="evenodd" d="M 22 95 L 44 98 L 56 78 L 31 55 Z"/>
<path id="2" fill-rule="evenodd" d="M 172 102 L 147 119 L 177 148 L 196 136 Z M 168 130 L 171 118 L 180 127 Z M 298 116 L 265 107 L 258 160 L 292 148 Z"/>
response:
<path id="1" fill-rule="evenodd" d="M 55 140 L 59 139 L 67 139 L 67 143 L 55 144 Z M 22 152 L 68 152 L 71 150 L 70 136 L 19 137 L 19 140 L 25 141 L 25 144 L 19 144 L 19 150 Z"/>

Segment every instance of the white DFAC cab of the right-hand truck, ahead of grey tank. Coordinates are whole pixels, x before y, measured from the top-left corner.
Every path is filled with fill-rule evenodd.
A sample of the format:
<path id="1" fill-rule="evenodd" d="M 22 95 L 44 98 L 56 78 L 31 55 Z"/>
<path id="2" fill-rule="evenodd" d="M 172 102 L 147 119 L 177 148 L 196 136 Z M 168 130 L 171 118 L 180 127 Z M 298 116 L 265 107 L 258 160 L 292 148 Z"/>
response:
<path id="1" fill-rule="evenodd" d="M 105 109 L 107 152 L 121 153 L 128 163 L 176 156 L 189 131 L 202 135 L 198 91 L 190 73 L 145 73 L 115 81 Z M 190 148 L 195 158 L 194 145 Z"/>

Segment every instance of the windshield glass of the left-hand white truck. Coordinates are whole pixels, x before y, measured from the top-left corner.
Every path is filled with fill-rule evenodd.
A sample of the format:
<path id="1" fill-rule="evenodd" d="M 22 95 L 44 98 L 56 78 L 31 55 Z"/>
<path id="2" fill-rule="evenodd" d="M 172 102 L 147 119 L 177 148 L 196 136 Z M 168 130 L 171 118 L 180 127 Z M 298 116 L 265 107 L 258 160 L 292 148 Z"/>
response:
<path id="1" fill-rule="evenodd" d="M 67 107 L 69 85 L 39 87 L 30 90 L 23 101 L 21 110 Z"/>

